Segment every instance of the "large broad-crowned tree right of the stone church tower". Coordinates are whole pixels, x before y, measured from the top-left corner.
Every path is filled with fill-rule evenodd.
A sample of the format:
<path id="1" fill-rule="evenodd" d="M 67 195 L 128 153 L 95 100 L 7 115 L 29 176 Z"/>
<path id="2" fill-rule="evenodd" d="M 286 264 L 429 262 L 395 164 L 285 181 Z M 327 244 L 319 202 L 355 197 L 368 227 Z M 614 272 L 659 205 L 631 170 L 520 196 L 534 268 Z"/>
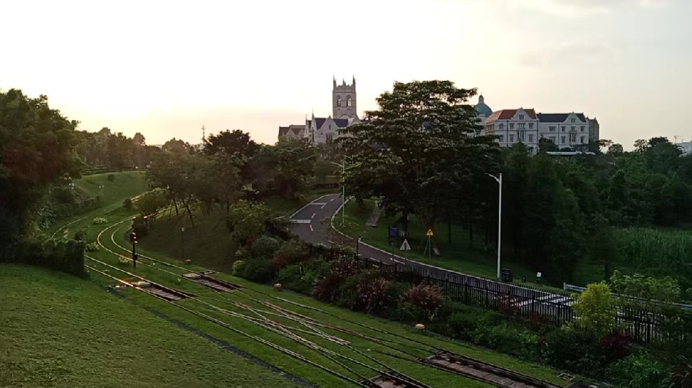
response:
<path id="1" fill-rule="evenodd" d="M 450 81 L 394 83 L 392 92 L 377 98 L 379 109 L 366 112 L 366 122 L 345 128 L 338 139 L 352 155 L 347 186 L 410 209 L 434 229 L 450 191 L 498 171 L 498 145 L 480 134 L 467 103 L 475 93 Z"/>

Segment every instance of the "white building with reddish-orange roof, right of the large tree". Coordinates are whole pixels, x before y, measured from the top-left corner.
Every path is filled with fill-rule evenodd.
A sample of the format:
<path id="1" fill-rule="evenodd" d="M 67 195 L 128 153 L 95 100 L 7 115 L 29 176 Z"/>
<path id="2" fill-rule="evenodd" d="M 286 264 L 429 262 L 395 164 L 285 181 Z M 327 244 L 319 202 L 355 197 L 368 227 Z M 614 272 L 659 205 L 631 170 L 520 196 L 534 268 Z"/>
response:
<path id="1" fill-rule="evenodd" d="M 531 153 L 538 152 L 538 117 L 536 110 L 531 109 L 502 109 L 493 112 L 484 122 L 485 135 L 498 137 L 502 147 L 522 142 Z"/>

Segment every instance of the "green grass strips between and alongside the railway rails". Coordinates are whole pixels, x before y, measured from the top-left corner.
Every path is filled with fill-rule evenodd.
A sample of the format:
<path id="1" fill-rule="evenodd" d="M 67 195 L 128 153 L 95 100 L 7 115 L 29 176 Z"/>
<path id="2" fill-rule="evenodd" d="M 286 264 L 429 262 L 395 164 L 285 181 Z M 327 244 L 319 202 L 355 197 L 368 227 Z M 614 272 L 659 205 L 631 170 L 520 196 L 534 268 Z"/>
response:
<path id="1" fill-rule="evenodd" d="M 127 224 L 122 224 L 120 226 L 114 226 L 111 229 L 108 229 L 104 233 L 102 233 L 102 237 L 100 239 L 100 242 L 102 242 L 105 246 L 105 248 L 110 249 L 118 254 L 124 254 L 127 255 L 127 241 L 125 240 L 124 233 L 127 229 Z M 113 240 L 111 240 L 111 237 Z M 120 246 L 118 246 L 118 244 Z M 115 265 L 116 264 L 116 254 L 113 254 L 107 249 L 102 249 L 98 253 L 95 254 L 97 258 L 100 260 L 104 260 L 105 262 L 108 262 L 110 264 Z M 172 258 L 168 258 L 166 255 L 161 255 L 156 252 L 150 251 L 147 249 L 145 246 L 138 246 L 138 251 L 140 251 L 141 254 L 144 255 L 154 255 L 158 259 L 163 259 L 168 262 L 176 262 Z M 181 264 L 180 262 L 177 262 L 179 265 Z M 149 265 L 146 265 L 149 264 Z M 97 268 L 103 269 L 103 266 L 100 266 L 99 264 L 94 264 Z M 190 271 L 200 271 L 203 268 L 191 265 Z M 165 269 L 165 271 L 169 271 L 172 273 L 165 273 L 160 271 L 159 269 Z M 479 358 L 481 360 L 485 360 L 487 362 L 495 363 L 498 365 L 502 365 L 503 367 L 507 367 L 509 369 L 515 369 L 518 371 L 522 371 L 522 373 L 525 374 L 530 374 L 532 376 L 538 376 L 540 378 L 545 378 L 547 380 L 551 380 L 560 384 L 563 384 L 564 382 L 561 381 L 556 377 L 557 372 L 552 371 L 551 369 L 548 369 L 546 367 L 541 367 L 538 365 L 531 364 L 529 362 L 523 362 L 520 360 L 516 360 L 514 358 L 511 358 L 509 356 L 504 356 L 500 353 L 495 353 L 493 351 L 486 351 L 484 349 L 479 349 L 476 347 L 471 347 L 469 345 L 465 345 L 461 342 L 453 341 L 453 340 L 447 340 L 447 339 L 438 339 L 434 338 L 432 336 L 425 336 L 420 333 L 415 333 L 415 329 L 412 329 L 411 327 L 405 327 L 401 324 L 397 324 L 394 322 L 389 322 L 386 320 L 382 320 L 379 318 L 374 318 L 372 316 L 366 316 L 362 313 L 356 313 L 353 311 L 348 311 L 344 309 L 339 309 L 337 307 L 333 307 L 329 304 L 323 304 L 321 302 L 316 302 L 315 300 L 312 300 L 311 298 L 307 298 L 302 295 L 296 295 L 290 292 L 284 292 L 284 293 L 276 293 L 275 290 L 273 290 L 272 287 L 260 285 L 260 284 L 254 284 L 252 282 L 247 282 L 246 280 L 242 280 L 239 278 L 234 278 L 231 275 L 227 275 L 225 273 L 219 273 L 217 276 L 222 279 L 229 280 L 231 282 L 234 282 L 236 284 L 241 284 L 242 286 L 245 287 L 244 289 L 244 294 L 243 293 L 226 293 L 226 294 L 219 294 L 219 293 L 212 293 L 211 291 L 208 291 L 208 289 L 200 286 L 199 284 L 195 284 L 194 282 L 191 282 L 189 280 L 185 280 L 178 274 L 181 274 L 186 271 L 182 271 L 179 269 L 174 269 L 169 266 L 162 266 L 161 264 L 156 264 L 153 262 L 150 262 L 149 260 L 142 258 L 140 261 L 140 264 L 138 265 L 137 269 L 131 269 L 131 267 L 127 268 L 128 271 L 132 271 L 134 273 L 138 273 L 142 276 L 144 276 L 147 279 L 155 280 L 156 282 L 161 282 L 162 284 L 167 284 L 171 287 L 176 287 L 177 289 L 183 289 L 185 291 L 189 291 L 192 293 L 195 293 L 196 295 L 199 295 L 199 298 L 194 298 L 192 300 L 183 300 L 180 302 L 182 305 L 185 307 L 189 307 L 191 309 L 195 309 L 196 311 L 206 311 L 206 313 L 210 313 L 210 315 L 214 316 L 215 318 L 218 318 L 220 320 L 223 320 L 224 322 L 227 322 L 228 324 L 231 324 L 233 327 L 236 329 L 245 331 L 247 333 L 251 333 L 255 336 L 261 336 L 265 340 L 269 340 L 277 345 L 286 347 L 288 349 L 291 349 L 292 351 L 298 351 L 300 354 L 303 356 L 309 358 L 310 360 L 313 360 L 315 362 L 319 362 L 320 365 L 325 365 L 326 367 L 329 367 L 330 369 L 333 369 L 335 371 L 338 371 L 339 373 L 342 374 L 349 374 L 349 371 L 347 371 L 345 368 L 340 367 L 340 365 L 336 364 L 335 362 L 332 362 L 331 360 L 327 360 L 324 356 L 320 355 L 316 351 L 307 349 L 306 347 L 302 347 L 301 345 L 296 344 L 292 340 L 289 340 L 285 338 L 284 336 L 277 335 L 276 333 L 272 333 L 270 331 L 267 331 L 266 329 L 262 329 L 260 327 L 257 327 L 255 324 L 251 324 L 250 322 L 247 322 L 245 320 L 239 319 L 239 318 L 233 318 L 230 316 L 226 316 L 222 313 L 214 313 L 208 309 L 204 304 L 200 302 L 200 300 L 218 305 L 218 306 L 224 306 L 230 310 L 237 311 L 237 312 L 242 312 L 242 309 L 239 309 L 237 307 L 234 307 L 232 302 L 243 302 L 245 304 L 250 305 L 251 307 L 260 307 L 260 304 L 257 302 L 253 302 L 252 300 L 248 300 L 246 297 L 252 296 L 253 298 L 257 298 L 258 300 L 264 300 L 268 301 L 274 304 L 277 304 L 281 307 L 284 307 L 286 309 L 290 309 L 291 311 L 295 311 L 298 313 L 302 313 L 306 316 L 310 316 L 313 319 L 316 319 L 320 322 L 324 323 L 329 323 L 329 324 L 338 324 L 342 327 L 347 327 L 349 329 L 357 329 L 358 331 L 362 331 L 367 333 L 368 335 L 373 335 L 373 336 L 379 336 L 379 337 L 388 337 L 390 340 L 394 342 L 399 342 L 403 346 L 403 349 L 408 349 L 408 345 L 415 345 L 415 344 L 408 344 L 406 343 L 406 340 L 401 340 L 401 338 L 397 338 L 394 336 L 386 336 L 383 335 L 382 333 L 377 333 L 376 331 L 372 331 L 370 329 L 364 329 L 361 326 L 358 326 L 355 323 L 352 322 L 360 322 L 362 324 L 367 324 L 370 327 L 374 327 L 376 329 L 381 329 L 388 331 L 390 333 L 396 333 L 401 336 L 406 336 L 407 338 L 415 338 L 421 342 L 425 342 L 426 344 L 434 347 L 441 347 L 444 349 L 449 349 L 451 351 L 455 351 L 460 354 L 464 354 L 466 356 L 471 356 L 475 358 Z M 111 273 L 115 274 L 117 271 L 111 270 Z M 98 274 L 92 274 L 93 278 L 98 279 L 99 281 L 105 282 L 104 284 L 108 284 L 109 282 L 112 283 L 112 280 L 107 280 L 104 279 L 102 275 Z M 125 278 L 129 278 L 127 275 L 123 275 Z M 174 307 L 172 304 L 168 304 L 165 302 L 160 302 L 156 300 L 155 298 L 151 298 L 148 295 L 143 295 L 141 293 L 136 293 L 135 290 L 127 289 L 126 292 L 128 293 L 129 296 L 132 298 L 136 298 L 137 300 L 140 300 L 140 302 L 143 302 L 147 304 L 148 306 L 155 307 L 156 309 L 163 311 L 164 313 L 167 313 L 171 316 L 176 317 L 176 319 L 179 319 L 186 324 L 190 324 L 192 327 L 201 329 L 205 331 L 206 333 L 210 333 L 212 336 L 215 336 L 217 338 L 222 338 L 224 340 L 227 340 L 228 342 L 233 343 L 235 346 L 239 347 L 240 349 L 244 351 L 248 351 L 248 353 L 253 354 L 254 356 L 257 356 L 259 358 L 262 358 L 263 360 L 267 360 L 268 362 L 271 362 L 274 365 L 277 365 L 278 367 L 281 367 L 282 369 L 285 369 L 286 371 L 289 371 L 290 373 L 293 373 L 297 376 L 306 378 L 307 380 L 310 380 L 311 382 L 314 382 L 320 386 L 343 386 L 344 383 L 341 380 L 338 380 L 334 378 L 334 376 L 331 376 L 329 374 L 326 374 L 325 372 L 316 370 L 316 368 L 311 367 L 309 365 L 306 365 L 302 362 L 297 362 L 295 359 L 290 358 L 288 356 L 285 356 L 284 354 L 280 353 L 279 351 L 276 351 L 275 349 L 268 348 L 264 345 L 260 345 L 254 340 L 251 340 L 249 338 L 244 338 L 242 336 L 237 335 L 236 333 L 230 332 L 228 329 L 225 329 L 224 327 L 220 327 L 217 324 L 214 324 L 212 322 L 208 322 L 206 320 L 203 320 L 202 318 L 199 318 L 197 316 L 192 315 L 191 313 L 187 313 L 185 311 L 181 311 L 180 309 L 177 309 Z M 265 294 L 270 294 L 270 295 L 279 295 L 280 298 L 284 298 L 285 300 L 276 300 L 275 298 L 271 298 L 271 296 L 267 296 Z M 302 304 L 304 307 L 298 307 L 292 302 L 297 302 Z M 333 315 L 327 315 L 325 313 L 321 313 L 320 311 L 314 311 L 312 308 L 320 309 L 322 311 L 327 311 Z M 266 307 L 262 307 L 262 309 L 266 310 Z M 247 313 L 247 312 L 245 312 Z M 338 318 L 336 318 L 338 317 Z M 274 319 L 274 318 L 273 318 Z M 282 320 L 278 320 L 280 322 L 283 322 Z M 349 322 L 350 321 L 350 322 Z M 285 321 L 288 322 L 288 321 Z M 330 332 L 330 334 L 338 334 L 335 332 Z M 343 333 L 338 334 L 341 338 L 344 338 L 346 340 L 349 340 L 352 342 L 352 345 L 356 349 L 360 349 L 361 351 L 370 354 L 370 356 L 376 357 L 377 359 L 381 360 L 382 362 L 385 362 L 387 365 L 390 365 L 394 368 L 397 368 L 401 371 L 406 371 L 407 374 L 410 376 L 417 378 L 419 380 L 423 380 L 424 382 L 430 384 L 431 386 L 463 386 L 463 387 L 487 387 L 487 385 L 481 384 L 479 382 L 475 382 L 472 380 L 468 380 L 466 378 L 462 378 L 461 376 L 455 376 L 453 374 L 448 374 L 444 373 L 441 371 L 438 371 L 437 369 L 432 369 L 430 367 L 427 367 L 425 365 L 419 365 L 417 362 L 413 360 L 399 360 L 398 358 L 393 358 L 391 356 L 386 356 L 383 355 L 380 352 L 390 352 L 390 353 L 396 353 L 395 351 L 392 351 L 391 349 L 385 349 L 381 345 L 377 345 L 374 343 L 371 343 L 367 340 L 363 340 L 361 338 L 357 338 L 354 336 L 348 336 Z M 343 347 L 340 347 L 339 345 L 334 345 L 331 342 L 328 342 L 326 340 L 322 340 L 317 337 L 309 336 L 308 337 L 311 341 L 314 341 L 318 343 L 321 346 L 327 347 L 333 351 L 338 351 L 339 353 L 347 355 L 349 358 L 354 358 L 356 360 L 361 360 L 363 362 L 368 362 L 366 358 L 364 358 L 362 355 L 358 354 L 357 352 L 354 352 L 349 349 L 344 349 Z M 370 350 L 368 350 L 370 349 Z M 416 352 L 415 350 L 409 349 L 412 352 Z M 419 351 L 418 356 L 429 356 L 431 352 L 424 353 Z M 372 363 L 372 362 L 371 362 Z M 373 371 L 369 371 L 368 369 L 365 369 L 363 367 L 355 367 L 354 368 L 358 373 L 361 373 L 365 376 L 374 376 Z"/>

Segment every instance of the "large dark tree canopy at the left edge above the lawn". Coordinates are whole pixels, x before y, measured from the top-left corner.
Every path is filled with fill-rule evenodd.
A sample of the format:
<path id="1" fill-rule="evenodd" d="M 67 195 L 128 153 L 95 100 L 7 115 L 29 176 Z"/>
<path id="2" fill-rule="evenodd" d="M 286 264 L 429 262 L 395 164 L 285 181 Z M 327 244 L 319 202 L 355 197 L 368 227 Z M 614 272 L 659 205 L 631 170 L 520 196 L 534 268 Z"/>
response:
<path id="1" fill-rule="evenodd" d="M 0 93 L 0 246 L 20 237 L 33 206 L 48 184 L 76 175 L 75 128 L 48 97 L 21 90 Z"/>

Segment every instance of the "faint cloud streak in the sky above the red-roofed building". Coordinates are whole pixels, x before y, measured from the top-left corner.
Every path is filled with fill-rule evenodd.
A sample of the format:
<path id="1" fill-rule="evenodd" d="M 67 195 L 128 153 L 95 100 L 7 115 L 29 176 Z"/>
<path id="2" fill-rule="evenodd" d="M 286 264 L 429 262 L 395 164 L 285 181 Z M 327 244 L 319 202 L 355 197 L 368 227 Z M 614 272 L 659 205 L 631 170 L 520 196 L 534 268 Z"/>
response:
<path id="1" fill-rule="evenodd" d="M 604 42 L 572 41 L 557 46 L 546 46 L 540 50 L 521 52 L 519 64 L 526 67 L 572 67 L 591 66 L 607 61 L 612 63 L 621 57 L 622 46 Z"/>

